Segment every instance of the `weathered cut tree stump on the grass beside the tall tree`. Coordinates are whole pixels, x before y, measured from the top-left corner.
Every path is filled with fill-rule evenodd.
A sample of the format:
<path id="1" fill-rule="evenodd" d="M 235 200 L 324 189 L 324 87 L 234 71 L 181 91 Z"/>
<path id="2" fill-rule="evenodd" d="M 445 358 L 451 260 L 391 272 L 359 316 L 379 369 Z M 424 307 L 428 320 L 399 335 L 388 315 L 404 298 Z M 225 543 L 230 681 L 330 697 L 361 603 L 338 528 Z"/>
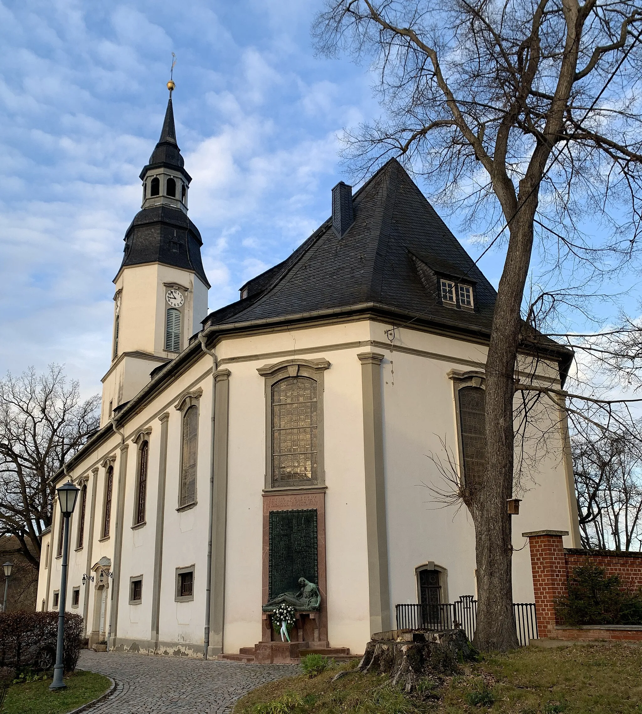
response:
<path id="1" fill-rule="evenodd" d="M 392 685 L 411 692 L 419 680 L 457 673 L 459 663 L 475 655 L 464 630 L 391 630 L 372 635 L 357 670 L 387 674 Z"/>

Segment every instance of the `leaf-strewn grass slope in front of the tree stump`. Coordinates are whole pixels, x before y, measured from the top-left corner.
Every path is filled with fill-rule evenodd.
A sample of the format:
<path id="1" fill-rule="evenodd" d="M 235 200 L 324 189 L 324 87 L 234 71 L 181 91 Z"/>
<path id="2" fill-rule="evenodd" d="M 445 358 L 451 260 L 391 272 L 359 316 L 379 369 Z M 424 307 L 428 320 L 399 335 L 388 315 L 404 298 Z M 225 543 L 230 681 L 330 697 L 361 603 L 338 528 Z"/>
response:
<path id="1" fill-rule="evenodd" d="M 404 695 L 387 678 L 330 668 L 264 685 L 234 714 L 642 714 L 642 647 L 617 644 L 524 648 L 485 655 L 442 683 Z"/>

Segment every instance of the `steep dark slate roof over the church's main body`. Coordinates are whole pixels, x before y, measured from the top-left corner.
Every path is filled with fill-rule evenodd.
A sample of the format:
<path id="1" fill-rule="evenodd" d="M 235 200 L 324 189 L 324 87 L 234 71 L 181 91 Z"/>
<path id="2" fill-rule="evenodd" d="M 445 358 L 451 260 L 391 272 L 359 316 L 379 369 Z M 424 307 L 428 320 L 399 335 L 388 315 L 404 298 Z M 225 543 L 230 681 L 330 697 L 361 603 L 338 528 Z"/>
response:
<path id="1" fill-rule="evenodd" d="M 459 333 L 489 336 L 496 291 L 396 159 L 353 196 L 355 221 L 340 238 L 332 218 L 291 256 L 245 283 L 248 297 L 210 313 L 203 326 L 270 321 L 300 313 L 374 309 Z M 474 310 L 442 303 L 439 277 L 473 286 Z M 529 341 L 572 353 L 531 331 Z"/>

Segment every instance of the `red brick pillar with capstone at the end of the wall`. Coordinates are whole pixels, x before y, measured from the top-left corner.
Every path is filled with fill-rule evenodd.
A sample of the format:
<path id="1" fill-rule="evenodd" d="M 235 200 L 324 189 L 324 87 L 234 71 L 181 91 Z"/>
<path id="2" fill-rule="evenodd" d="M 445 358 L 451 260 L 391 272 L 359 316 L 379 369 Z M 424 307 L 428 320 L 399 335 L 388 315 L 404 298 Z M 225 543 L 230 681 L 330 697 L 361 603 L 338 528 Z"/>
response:
<path id="1" fill-rule="evenodd" d="M 531 549 L 539 636 L 557 639 L 554 601 L 567 594 L 562 535 L 569 535 L 569 531 L 531 531 L 521 535 L 529 539 Z"/>

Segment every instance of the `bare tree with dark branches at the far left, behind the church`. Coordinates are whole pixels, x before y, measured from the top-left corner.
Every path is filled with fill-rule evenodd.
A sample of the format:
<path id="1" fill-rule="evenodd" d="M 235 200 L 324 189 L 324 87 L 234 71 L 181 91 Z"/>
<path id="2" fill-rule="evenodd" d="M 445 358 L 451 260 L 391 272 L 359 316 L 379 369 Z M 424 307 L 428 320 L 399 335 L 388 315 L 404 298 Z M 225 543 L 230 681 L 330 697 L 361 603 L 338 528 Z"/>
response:
<path id="1" fill-rule="evenodd" d="M 34 568 L 51 526 L 49 479 L 98 428 L 99 403 L 98 395 L 82 401 L 58 365 L 0 380 L 0 537 L 14 535 Z"/>

